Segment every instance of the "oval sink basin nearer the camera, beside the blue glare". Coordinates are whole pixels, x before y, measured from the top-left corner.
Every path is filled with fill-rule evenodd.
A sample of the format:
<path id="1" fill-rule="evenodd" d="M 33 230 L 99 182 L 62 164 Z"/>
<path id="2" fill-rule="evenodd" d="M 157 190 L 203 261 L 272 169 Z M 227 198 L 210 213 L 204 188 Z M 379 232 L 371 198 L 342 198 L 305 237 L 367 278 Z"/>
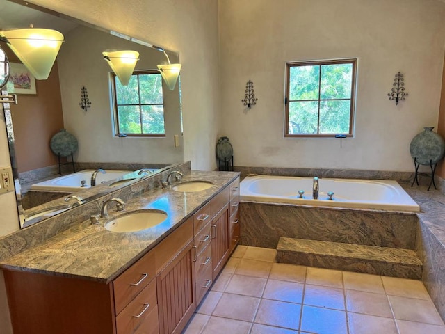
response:
<path id="1" fill-rule="evenodd" d="M 129 212 L 108 221 L 105 228 L 111 232 L 137 232 L 153 228 L 165 219 L 167 219 L 167 213 L 161 210 Z"/>

